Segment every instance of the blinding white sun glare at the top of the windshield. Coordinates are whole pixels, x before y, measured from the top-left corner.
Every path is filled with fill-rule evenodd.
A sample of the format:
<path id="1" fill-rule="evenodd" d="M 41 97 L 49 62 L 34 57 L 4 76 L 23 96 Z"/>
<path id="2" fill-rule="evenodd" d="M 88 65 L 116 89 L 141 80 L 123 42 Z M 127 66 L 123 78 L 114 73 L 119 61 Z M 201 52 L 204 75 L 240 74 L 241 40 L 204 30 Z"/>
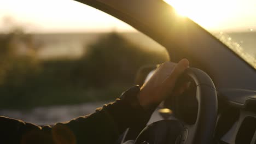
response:
<path id="1" fill-rule="evenodd" d="M 237 3 L 230 0 L 164 0 L 170 4 L 179 16 L 189 17 L 205 28 L 219 27 L 230 15 L 237 13 Z"/>

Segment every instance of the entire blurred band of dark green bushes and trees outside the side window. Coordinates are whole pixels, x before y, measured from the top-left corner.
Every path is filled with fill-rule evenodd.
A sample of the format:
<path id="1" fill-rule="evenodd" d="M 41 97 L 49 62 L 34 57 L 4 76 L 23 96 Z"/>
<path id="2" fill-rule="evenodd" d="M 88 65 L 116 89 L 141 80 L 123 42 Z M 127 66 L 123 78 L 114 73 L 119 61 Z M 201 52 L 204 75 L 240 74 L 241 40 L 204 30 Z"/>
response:
<path id="1" fill-rule="evenodd" d="M 148 51 L 117 33 L 102 34 L 80 59 L 39 62 L 37 49 L 33 35 L 0 35 L 0 108 L 113 100 L 140 67 L 168 59 L 165 51 Z"/>

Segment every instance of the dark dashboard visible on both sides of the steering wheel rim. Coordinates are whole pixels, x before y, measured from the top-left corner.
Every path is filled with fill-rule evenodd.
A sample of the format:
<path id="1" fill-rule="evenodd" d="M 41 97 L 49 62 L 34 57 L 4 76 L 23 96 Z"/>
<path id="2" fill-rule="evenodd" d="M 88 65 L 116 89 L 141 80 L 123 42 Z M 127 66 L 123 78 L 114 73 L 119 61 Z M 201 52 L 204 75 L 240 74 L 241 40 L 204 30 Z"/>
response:
<path id="1" fill-rule="evenodd" d="M 188 91 L 165 101 L 175 117 L 194 124 L 197 115 L 195 85 Z M 218 92 L 218 119 L 214 143 L 256 144 L 256 92 L 245 89 L 228 89 Z"/>

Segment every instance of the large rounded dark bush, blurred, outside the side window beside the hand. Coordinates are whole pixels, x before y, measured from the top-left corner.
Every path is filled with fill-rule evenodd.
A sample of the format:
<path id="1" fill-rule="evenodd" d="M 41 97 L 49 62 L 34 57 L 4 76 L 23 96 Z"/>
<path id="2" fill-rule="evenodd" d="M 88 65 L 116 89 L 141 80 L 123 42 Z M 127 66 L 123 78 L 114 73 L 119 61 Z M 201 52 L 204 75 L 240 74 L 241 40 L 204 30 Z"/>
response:
<path id="1" fill-rule="evenodd" d="M 148 51 L 131 43 L 120 34 L 112 32 L 103 35 L 96 43 L 89 45 L 79 69 L 91 86 L 104 87 L 111 83 L 133 83 L 139 67 L 167 61 L 165 51 Z M 83 70 L 82 70 L 83 69 Z"/>

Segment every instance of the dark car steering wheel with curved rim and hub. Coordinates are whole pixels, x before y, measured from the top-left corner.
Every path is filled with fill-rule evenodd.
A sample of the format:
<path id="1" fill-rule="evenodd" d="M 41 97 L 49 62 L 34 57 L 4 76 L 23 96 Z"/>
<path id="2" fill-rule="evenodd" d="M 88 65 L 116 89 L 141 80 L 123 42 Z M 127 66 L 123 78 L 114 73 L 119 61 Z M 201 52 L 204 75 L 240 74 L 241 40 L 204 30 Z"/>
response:
<path id="1" fill-rule="evenodd" d="M 135 144 L 141 143 L 212 143 L 217 121 L 217 92 L 211 77 L 204 71 L 188 68 L 179 78 L 190 77 L 196 85 L 197 116 L 194 124 L 182 119 L 162 120 L 150 124 L 137 136 Z M 129 132 L 128 132 L 129 133 Z"/>

